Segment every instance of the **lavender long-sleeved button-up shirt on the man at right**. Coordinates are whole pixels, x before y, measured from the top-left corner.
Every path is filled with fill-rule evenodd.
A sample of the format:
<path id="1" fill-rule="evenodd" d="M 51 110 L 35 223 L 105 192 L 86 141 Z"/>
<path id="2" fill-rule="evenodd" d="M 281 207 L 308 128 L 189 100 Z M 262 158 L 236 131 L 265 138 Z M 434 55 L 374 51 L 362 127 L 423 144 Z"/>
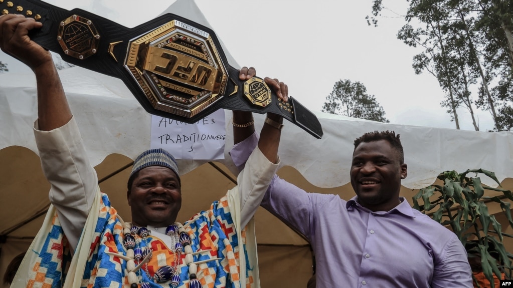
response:
<path id="1" fill-rule="evenodd" d="M 232 148 L 240 169 L 257 142 L 253 134 Z M 390 211 L 372 212 L 356 196 L 307 193 L 274 175 L 261 205 L 309 239 L 318 288 L 472 287 L 456 234 L 404 199 Z"/>

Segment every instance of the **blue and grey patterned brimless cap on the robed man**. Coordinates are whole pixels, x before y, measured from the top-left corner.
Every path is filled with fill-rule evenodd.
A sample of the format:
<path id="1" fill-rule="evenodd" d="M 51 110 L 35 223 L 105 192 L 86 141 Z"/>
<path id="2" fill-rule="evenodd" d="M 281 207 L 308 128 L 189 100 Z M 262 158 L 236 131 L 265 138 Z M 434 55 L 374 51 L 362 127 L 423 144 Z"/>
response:
<path id="1" fill-rule="evenodd" d="M 176 164 L 176 160 L 173 155 L 171 155 L 166 150 L 159 149 L 150 149 L 143 152 L 141 155 L 137 156 L 133 161 L 132 172 L 130 172 L 130 178 L 134 173 L 141 171 L 142 169 L 150 166 L 162 166 L 171 169 L 171 171 L 176 174 L 176 177 L 180 179 L 180 174 L 178 173 L 178 165 Z"/>

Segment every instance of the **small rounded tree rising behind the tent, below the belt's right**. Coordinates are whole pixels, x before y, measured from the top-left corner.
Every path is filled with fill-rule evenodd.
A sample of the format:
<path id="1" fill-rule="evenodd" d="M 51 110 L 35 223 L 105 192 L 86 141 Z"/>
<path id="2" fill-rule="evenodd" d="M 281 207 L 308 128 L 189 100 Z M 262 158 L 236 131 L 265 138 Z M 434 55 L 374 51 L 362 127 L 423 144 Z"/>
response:
<path id="1" fill-rule="evenodd" d="M 352 83 L 348 79 L 341 79 L 333 85 L 333 91 L 326 97 L 322 112 L 389 122 L 376 97 L 367 94 L 367 88 L 359 81 Z"/>

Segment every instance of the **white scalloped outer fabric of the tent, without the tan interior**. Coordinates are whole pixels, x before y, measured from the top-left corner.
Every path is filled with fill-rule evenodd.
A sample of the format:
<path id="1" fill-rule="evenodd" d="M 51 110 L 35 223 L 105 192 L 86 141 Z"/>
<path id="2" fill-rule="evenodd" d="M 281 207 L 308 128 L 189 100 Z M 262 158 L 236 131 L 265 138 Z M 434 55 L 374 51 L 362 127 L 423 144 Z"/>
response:
<path id="1" fill-rule="evenodd" d="M 110 154 L 134 159 L 150 147 L 151 115 L 136 101 L 121 80 L 79 67 L 60 71 L 70 106 L 85 139 L 93 165 Z M 33 75 L 0 75 L 0 149 L 22 146 L 36 152 L 31 133 L 37 118 L 37 99 Z M 401 135 L 408 177 L 403 186 L 419 189 L 435 181 L 446 170 L 494 171 L 499 181 L 513 175 L 513 133 L 475 132 L 407 125 L 383 124 L 343 116 L 316 113 L 324 136 L 315 139 L 302 129 L 285 123 L 280 157 L 284 165 L 297 169 L 312 184 L 322 188 L 339 187 L 349 182 L 353 141 L 365 132 L 393 130 Z M 225 159 L 230 171 L 235 167 L 228 152 L 233 143 L 231 111 L 227 123 Z M 264 115 L 255 114 L 259 131 Z M 179 160 L 182 174 L 207 160 Z M 490 179 L 485 184 L 496 187 Z"/>

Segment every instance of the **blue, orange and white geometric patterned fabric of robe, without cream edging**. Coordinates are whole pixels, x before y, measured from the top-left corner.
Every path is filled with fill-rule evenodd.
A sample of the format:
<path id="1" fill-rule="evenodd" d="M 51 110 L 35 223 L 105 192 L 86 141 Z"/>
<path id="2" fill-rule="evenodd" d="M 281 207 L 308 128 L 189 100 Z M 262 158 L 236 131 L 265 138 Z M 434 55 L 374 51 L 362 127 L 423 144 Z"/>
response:
<path id="1" fill-rule="evenodd" d="M 98 221 L 90 245 L 89 258 L 84 271 L 82 287 L 130 287 L 127 280 L 127 262 L 107 252 L 126 255 L 123 246 L 123 227 L 116 217 L 116 210 L 110 206 L 106 194 L 102 193 L 102 203 L 98 213 Z M 189 223 L 190 222 L 190 223 Z M 187 225 L 187 223 L 189 223 Z M 239 253 L 246 254 L 245 230 L 241 232 L 244 243 L 238 243 L 235 227 L 228 208 L 227 197 L 212 203 L 207 211 L 202 211 L 184 223 L 185 231 L 191 238 L 192 251 L 211 250 L 210 252 L 194 255 L 194 261 L 206 260 L 209 258 L 221 258 L 198 265 L 196 277 L 200 280 L 203 288 L 240 287 L 239 278 Z M 64 236 L 58 217 L 53 216 L 51 227 L 47 228 L 46 240 L 38 257 L 28 273 L 29 288 L 50 288 L 62 287 L 66 272 L 71 262 L 68 242 Z M 174 253 L 168 250 L 167 246 L 159 238 L 148 236 L 148 244 L 153 249 L 152 258 L 148 262 L 147 270 L 152 274 L 159 266 L 157 259 L 165 258 L 168 265 L 172 265 Z M 144 246 L 144 241 L 141 241 Z M 248 263 L 249 261 L 246 261 Z M 162 263 L 161 263 L 162 264 Z M 185 254 L 180 259 L 180 284 L 178 287 L 188 287 L 188 266 L 185 264 Z M 253 277 L 249 264 L 245 269 L 247 287 L 252 287 Z M 155 283 L 146 274 L 146 269 L 137 271 L 142 282 L 149 283 L 152 287 L 169 287 L 170 281 Z"/>

